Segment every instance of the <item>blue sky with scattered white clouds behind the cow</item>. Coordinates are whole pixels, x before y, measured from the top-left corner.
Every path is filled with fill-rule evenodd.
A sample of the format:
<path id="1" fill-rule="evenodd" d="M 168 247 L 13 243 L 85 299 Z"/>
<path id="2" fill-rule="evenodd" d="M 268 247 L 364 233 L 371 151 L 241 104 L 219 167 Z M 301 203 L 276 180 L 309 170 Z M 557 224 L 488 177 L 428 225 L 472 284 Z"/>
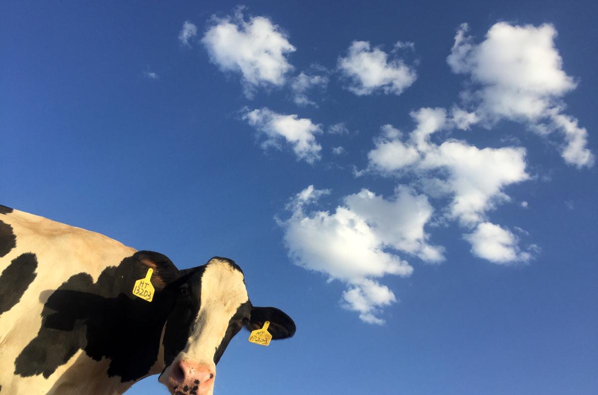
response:
<path id="1" fill-rule="evenodd" d="M 597 11 L 2 2 L 1 203 L 236 260 L 218 395 L 592 394 Z"/>

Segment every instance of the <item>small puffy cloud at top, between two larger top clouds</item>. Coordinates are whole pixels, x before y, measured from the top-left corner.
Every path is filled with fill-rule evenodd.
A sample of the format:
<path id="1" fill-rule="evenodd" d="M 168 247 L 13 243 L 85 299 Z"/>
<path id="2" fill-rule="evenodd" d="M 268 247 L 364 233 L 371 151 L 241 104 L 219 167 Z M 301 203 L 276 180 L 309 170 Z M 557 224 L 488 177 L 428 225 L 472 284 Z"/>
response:
<path id="1" fill-rule="evenodd" d="M 404 44 L 404 43 L 397 43 Z M 368 41 L 353 41 L 346 57 L 339 57 L 338 69 L 349 79 L 347 87 L 355 95 L 371 95 L 382 91 L 400 95 L 417 78 L 413 67 L 380 48 L 371 48 Z"/>

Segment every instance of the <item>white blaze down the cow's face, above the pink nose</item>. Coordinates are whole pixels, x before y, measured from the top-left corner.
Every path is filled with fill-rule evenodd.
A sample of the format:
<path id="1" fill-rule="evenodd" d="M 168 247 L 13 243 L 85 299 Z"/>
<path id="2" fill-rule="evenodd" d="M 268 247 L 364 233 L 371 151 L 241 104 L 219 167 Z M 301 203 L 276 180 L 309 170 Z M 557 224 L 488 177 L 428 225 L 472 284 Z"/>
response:
<path id="1" fill-rule="evenodd" d="M 230 319 L 248 300 L 243 274 L 224 260 L 210 260 L 202 275 L 201 306 L 185 357 L 213 366 Z"/>

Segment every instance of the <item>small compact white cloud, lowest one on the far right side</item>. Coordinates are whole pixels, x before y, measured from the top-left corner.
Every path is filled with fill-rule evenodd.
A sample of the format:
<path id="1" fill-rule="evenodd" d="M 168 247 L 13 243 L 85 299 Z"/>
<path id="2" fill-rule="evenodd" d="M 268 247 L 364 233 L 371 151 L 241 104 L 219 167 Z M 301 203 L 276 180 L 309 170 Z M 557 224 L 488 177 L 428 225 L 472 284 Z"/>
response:
<path id="1" fill-rule="evenodd" d="M 478 224 L 474 232 L 463 236 L 471 243 L 471 252 L 475 256 L 500 265 L 527 262 L 532 258 L 529 251 L 521 251 L 518 239 L 511 231 L 490 222 Z M 535 246 L 530 246 L 534 251 Z"/>

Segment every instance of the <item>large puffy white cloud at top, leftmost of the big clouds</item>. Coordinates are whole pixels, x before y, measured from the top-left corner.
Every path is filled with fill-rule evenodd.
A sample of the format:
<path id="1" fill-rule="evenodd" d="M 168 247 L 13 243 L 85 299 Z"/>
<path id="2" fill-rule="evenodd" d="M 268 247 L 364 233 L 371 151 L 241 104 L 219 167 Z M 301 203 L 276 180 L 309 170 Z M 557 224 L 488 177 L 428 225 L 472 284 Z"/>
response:
<path id="1" fill-rule="evenodd" d="M 246 21 L 241 9 L 233 17 L 214 17 L 202 42 L 212 63 L 242 75 L 247 96 L 258 86 L 282 86 L 292 70 L 286 56 L 295 47 L 285 32 L 266 17 Z"/>

